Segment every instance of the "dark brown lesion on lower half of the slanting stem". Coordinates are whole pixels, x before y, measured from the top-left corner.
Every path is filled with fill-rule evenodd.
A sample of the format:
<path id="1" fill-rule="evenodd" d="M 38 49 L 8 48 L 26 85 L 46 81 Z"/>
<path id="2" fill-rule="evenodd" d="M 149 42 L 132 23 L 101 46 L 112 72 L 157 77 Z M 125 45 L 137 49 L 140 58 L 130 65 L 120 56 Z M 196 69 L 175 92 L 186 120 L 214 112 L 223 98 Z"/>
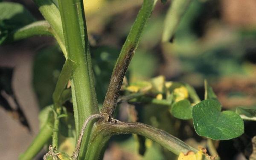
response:
<path id="1" fill-rule="evenodd" d="M 131 45 L 127 49 L 125 49 L 125 56 L 122 56 L 120 54 L 116 66 L 113 70 L 110 84 L 108 87 L 107 94 L 105 96 L 105 100 L 103 103 L 102 113 L 107 113 L 109 115 L 108 121 L 111 120 L 113 117 L 113 112 L 116 109 L 118 97 L 119 97 L 119 91 L 122 86 L 122 81 L 125 77 L 125 73 L 128 69 L 128 66 L 131 62 L 131 58 L 134 55 L 135 46 Z M 122 51 L 121 51 L 122 53 Z"/>

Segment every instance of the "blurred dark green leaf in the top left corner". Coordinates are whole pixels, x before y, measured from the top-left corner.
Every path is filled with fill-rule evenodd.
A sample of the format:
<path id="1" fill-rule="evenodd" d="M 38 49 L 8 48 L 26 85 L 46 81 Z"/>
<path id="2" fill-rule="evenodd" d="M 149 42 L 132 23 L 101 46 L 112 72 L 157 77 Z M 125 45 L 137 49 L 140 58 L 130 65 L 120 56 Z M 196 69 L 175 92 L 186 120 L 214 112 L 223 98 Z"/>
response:
<path id="1" fill-rule="evenodd" d="M 35 21 L 35 18 L 19 3 L 0 3 L 0 44 L 8 34 Z"/>

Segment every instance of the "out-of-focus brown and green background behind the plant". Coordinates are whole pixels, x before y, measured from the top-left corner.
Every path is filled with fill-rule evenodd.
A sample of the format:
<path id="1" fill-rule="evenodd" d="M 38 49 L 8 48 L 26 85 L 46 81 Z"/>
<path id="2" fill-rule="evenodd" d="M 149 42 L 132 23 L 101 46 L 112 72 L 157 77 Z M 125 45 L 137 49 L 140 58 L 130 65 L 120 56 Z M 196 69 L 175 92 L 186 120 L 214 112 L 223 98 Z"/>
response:
<path id="1" fill-rule="evenodd" d="M 42 20 L 32 0 L 5 0 L 26 6 Z M 93 57 L 98 101 L 104 100 L 113 65 L 143 0 L 85 0 L 87 30 Z M 256 1 L 193 0 L 170 43 L 161 43 L 170 0 L 157 3 L 129 66 L 128 82 L 164 75 L 186 82 L 204 99 L 204 79 L 223 109 L 256 105 Z M 38 114 L 52 104 L 64 56 L 52 37 L 32 37 L 0 46 L 0 155 L 15 160 L 38 132 Z M 42 117 L 42 116 L 41 116 Z M 120 120 L 139 121 L 164 129 L 197 148 L 206 146 L 189 120 L 177 120 L 166 106 L 118 107 Z M 236 139 L 216 141 L 223 160 L 244 160 L 253 150 L 256 123 L 245 122 Z M 70 144 L 65 141 L 63 147 Z M 65 146 L 66 145 L 66 146 Z M 36 160 L 42 159 L 45 148 Z M 136 135 L 111 138 L 105 160 L 172 160 L 175 155 Z"/>

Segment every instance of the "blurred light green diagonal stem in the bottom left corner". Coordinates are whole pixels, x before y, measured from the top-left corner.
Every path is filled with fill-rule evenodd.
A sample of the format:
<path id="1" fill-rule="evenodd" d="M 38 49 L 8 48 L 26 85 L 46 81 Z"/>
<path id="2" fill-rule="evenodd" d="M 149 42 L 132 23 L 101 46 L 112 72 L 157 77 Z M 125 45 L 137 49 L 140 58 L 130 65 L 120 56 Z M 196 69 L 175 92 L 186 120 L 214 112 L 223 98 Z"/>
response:
<path id="1" fill-rule="evenodd" d="M 20 155 L 19 160 L 32 160 L 51 137 L 52 124 L 48 122 L 40 129 L 38 135 L 35 137 L 28 149 Z"/>

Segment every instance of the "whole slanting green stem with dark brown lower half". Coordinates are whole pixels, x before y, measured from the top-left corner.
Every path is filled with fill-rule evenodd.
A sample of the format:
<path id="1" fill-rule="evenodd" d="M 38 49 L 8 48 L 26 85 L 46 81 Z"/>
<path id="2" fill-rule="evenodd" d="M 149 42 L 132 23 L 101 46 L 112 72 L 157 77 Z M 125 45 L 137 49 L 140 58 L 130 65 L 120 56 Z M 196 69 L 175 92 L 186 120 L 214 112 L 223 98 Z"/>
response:
<path id="1" fill-rule="evenodd" d="M 102 113 L 107 113 L 109 117 L 113 117 L 113 112 L 116 108 L 123 78 L 134 55 L 134 52 L 139 45 L 140 37 L 145 28 L 145 24 L 154 9 L 156 1 L 157 0 L 143 1 L 143 6 L 141 7 L 137 18 L 131 27 L 130 33 L 126 38 L 124 45 L 122 46 L 122 50 L 119 54 L 113 69 L 113 73 L 111 75 L 111 81 L 108 86 L 108 91 L 106 93 L 102 107 Z"/>

